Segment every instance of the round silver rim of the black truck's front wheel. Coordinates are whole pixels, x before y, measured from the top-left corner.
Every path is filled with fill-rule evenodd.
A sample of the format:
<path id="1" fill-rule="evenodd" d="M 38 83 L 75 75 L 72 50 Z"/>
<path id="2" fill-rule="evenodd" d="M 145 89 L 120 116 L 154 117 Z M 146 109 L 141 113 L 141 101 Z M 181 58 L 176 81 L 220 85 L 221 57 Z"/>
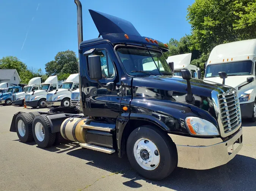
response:
<path id="1" fill-rule="evenodd" d="M 145 170 L 154 170 L 160 163 L 159 150 L 150 139 L 138 139 L 133 146 L 133 154 L 136 162 Z"/>

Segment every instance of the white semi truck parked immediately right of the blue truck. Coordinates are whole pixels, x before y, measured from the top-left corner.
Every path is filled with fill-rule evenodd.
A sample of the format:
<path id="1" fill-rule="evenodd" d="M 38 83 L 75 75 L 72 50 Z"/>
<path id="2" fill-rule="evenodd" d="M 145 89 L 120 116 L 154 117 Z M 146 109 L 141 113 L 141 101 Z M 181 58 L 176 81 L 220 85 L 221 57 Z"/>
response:
<path id="1" fill-rule="evenodd" d="M 29 80 L 28 85 L 24 87 L 23 92 L 19 92 L 17 94 L 12 95 L 13 104 L 23 106 L 25 95 L 28 94 L 29 92 L 38 90 L 41 86 L 41 83 L 42 83 L 41 77 L 35 77 Z"/>

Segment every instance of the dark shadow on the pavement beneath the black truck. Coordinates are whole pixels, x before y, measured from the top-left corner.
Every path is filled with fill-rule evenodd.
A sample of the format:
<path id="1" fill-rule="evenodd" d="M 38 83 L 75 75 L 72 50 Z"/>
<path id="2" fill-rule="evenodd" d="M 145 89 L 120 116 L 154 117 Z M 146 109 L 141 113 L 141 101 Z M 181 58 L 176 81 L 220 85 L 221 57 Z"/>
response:
<path id="1" fill-rule="evenodd" d="M 117 154 L 108 155 L 89 149 L 75 149 L 68 155 L 88 160 L 87 165 L 101 168 L 111 173 L 123 174 L 130 179 L 123 185 L 130 188 L 139 188 L 142 185 L 135 182 L 144 180 L 159 187 L 174 190 L 255 190 L 256 188 L 256 159 L 237 155 L 226 165 L 209 170 L 192 170 L 176 168 L 164 180 L 155 182 L 140 177 L 131 169 L 127 157 L 120 159 Z"/>

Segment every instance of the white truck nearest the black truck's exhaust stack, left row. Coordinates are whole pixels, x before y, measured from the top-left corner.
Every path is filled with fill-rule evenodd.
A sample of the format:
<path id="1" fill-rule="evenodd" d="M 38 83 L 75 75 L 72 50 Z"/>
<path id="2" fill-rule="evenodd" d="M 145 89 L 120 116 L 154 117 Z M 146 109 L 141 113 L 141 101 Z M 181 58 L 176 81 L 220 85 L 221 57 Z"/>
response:
<path id="1" fill-rule="evenodd" d="M 47 93 L 47 106 L 70 106 L 71 92 L 79 89 L 79 74 L 71 74 L 60 89 Z"/>

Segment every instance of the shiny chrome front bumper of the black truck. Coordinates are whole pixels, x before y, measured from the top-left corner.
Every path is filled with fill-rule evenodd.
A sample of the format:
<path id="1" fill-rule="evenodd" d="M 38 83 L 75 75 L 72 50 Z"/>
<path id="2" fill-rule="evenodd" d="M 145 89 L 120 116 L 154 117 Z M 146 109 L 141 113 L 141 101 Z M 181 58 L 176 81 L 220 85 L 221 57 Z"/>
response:
<path id="1" fill-rule="evenodd" d="M 168 135 L 177 147 L 178 166 L 189 169 L 203 170 L 225 165 L 236 156 L 243 145 L 242 128 L 225 142 L 221 138 Z"/>

